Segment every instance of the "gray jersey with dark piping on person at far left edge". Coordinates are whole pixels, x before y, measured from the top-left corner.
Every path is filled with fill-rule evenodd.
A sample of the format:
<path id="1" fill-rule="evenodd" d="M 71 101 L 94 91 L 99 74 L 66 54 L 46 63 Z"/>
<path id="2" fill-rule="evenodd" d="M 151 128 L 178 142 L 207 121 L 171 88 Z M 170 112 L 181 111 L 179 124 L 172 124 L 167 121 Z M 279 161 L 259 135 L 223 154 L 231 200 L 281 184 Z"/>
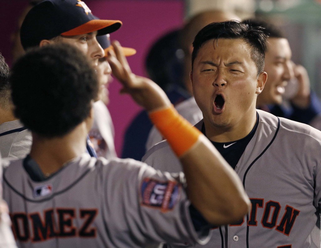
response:
<path id="1" fill-rule="evenodd" d="M 24 158 L 30 152 L 31 143 L 31 133 L 23 128 L 20 120 L 0 125 L 0 152 L 3 158 Z"/>

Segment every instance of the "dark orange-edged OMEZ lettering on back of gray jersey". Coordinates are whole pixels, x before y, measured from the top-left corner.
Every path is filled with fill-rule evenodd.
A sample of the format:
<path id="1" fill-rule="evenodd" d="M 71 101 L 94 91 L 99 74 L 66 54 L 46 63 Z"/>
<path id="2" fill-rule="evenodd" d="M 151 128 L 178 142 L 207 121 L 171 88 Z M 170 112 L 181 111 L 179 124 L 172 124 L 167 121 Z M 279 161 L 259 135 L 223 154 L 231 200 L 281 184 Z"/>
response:
<path id="1" fill-rule="evenodd" d="M 96 227 L 92 226 L 98 209 L 56 208 L 43 213 L 12 213 L 12 229 L 19 241 L 39 242 L 56 237 L 96 237 Z M 74 226 L 74 220 L 82 223 Z"/>

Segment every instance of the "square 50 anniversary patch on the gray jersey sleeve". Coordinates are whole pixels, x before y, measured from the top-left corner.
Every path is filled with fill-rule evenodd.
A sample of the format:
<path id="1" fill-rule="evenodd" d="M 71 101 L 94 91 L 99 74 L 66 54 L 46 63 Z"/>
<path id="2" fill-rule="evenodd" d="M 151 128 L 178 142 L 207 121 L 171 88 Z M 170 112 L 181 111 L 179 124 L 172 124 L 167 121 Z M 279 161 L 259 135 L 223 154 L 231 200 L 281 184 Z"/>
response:
<path id="1" fill-rule="evenodd" d="M 142 204 L 160 208 L 162 212 L 172 210 L 180 197 L 180 188 L 181 185 L 175 181 L 145 178 L 141 186 Z"/>

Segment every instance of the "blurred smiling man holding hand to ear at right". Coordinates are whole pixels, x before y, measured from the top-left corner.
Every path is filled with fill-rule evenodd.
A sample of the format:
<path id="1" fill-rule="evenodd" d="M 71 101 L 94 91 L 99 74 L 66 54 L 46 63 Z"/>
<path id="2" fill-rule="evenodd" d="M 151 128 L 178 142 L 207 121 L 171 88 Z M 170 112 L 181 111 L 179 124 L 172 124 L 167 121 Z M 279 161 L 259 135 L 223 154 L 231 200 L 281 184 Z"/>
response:
<path id="1" fill-rule="evenodd" d="M 257 97 L 256 108 L 309 124 L 321 112 L 321 103 L 310 90 L 307 70 L 292 62 L 288 39 L 280 29 L 264 20 L 249 19 L 243 22 L 254 27 L 263 27 L 263 32 L 269 36 L 264 67 L 268 77 L 262 93 Z M 288 97 L 289 99 L 285 99 L 286 90 L 291 90 L 287 87 L 291 80 L 296 80 L 297 91 Z"/>

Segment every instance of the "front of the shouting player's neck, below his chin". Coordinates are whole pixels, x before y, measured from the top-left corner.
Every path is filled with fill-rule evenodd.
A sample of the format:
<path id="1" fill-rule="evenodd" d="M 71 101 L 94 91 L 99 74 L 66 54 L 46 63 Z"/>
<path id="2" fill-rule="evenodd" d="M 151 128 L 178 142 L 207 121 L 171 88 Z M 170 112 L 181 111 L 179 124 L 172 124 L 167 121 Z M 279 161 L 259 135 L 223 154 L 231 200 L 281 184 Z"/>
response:
<path id="1" fill-rule="evenodd" d="M 246 137 L 256 123 L 256 109 L 253 109 L 246 118 L 240 119 L 234 125 L 215 126 L 204 119 L 206 136 L 214 142 L 231 142 Z"/>

